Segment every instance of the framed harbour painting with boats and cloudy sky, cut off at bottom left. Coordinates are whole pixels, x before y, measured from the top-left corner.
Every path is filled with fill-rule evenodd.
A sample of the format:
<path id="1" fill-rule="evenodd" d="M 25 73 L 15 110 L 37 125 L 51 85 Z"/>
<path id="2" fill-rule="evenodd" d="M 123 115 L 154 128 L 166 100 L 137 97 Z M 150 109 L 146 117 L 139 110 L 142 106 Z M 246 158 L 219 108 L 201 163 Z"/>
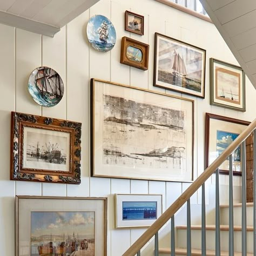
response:
<path id="1" fill-rule="evenodd" d="M 15 255 L 107 255 L 107 198 L 16 196 Z"/>

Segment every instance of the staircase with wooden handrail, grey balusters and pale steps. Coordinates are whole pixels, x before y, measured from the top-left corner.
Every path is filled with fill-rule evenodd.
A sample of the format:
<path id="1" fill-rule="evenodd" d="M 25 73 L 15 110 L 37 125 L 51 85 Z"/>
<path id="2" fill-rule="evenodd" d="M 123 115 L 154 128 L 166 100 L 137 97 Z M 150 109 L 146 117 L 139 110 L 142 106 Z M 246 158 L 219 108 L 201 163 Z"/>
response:
<path id="1" fill-rule="evenodd" d="M 140 256 L 142 248 L 154 237 L 154 250 L 150 255 L 167 253 L 175 255 L 255 255 L 256 256 L 256 204 L 246 204 L 246 147 L 245 140 L 253 133 L 253 177 L 256 177 L 256 119 L 208 166 L 205 171 L 160 215 L 160 217 L 127 249 L 123 256 Z M 233 155 L 241 146 L 241 204 L 233 204 Z M 229 159 L 229 204 L 219 204 L 219 166 Z M 215 172 L 215 223 L 206 225 L 205 182 Z M 201 188 L 201 226 L 191 225 L 190 198 Z M 256 198 L 256 179 L 253 182 L 253 198 Z M 177 226 L 175 236 L 174 217 L 186 205 L 186 226 Z M 171 220 L 171 250 L 160 249 L 158 233 Z M 176 241 L 177 240 L 177 241 Z M 253 253 L 252 253 L 253 252 Z M 167 255 L 166 254 L 166 255 Z M 146 254 L 149 256 L 149 254 Z"/>

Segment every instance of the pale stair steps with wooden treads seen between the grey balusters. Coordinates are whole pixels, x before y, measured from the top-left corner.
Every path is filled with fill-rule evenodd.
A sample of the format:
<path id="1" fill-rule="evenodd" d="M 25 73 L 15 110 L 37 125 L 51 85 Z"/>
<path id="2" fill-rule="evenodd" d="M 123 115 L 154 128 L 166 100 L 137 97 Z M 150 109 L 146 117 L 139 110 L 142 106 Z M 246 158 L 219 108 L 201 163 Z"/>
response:
<path id="1" fill-rule="evenodd" d="M 241 219 L 242 204 L 233 205 L 234 213 L 234 255 L 241 254 Z M 247 212 L 247 255 L 253 255 L 253 203 L 246 204 Z M 228 205 L 220 206 L 220 255 L 228 254 L 229 231 Z M 176 255 L 187 255 L 186 233 L 187 226 L 177 226 Z M 191 255 L 201 255 L 201 226 L 191 225 Z M 159 248 L 159 256 L 171 255 L 170 248 Z M 206 255 L 215 254 L 215 225 L 206 225 Z"/>

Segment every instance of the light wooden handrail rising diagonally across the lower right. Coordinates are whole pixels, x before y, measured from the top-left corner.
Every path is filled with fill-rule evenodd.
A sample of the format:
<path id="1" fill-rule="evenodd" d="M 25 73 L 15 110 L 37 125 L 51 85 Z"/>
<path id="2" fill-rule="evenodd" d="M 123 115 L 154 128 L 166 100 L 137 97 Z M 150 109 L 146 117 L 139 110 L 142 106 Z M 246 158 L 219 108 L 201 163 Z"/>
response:
<path id="1" fill-rule="evenodd" d="M 167 210 L 138 238 L 137 241 L 123 254 L 134 256 L 148 242 L 154 234 L 183 206 L 186 201 L 205 183 L 205 181 L 218 169 L 218 167 L 230 156 L 235 149 L 256 129 L 256 119 L 231 143 L 223 153 L 208 166 L 205 171 L 167 208 Z"/>

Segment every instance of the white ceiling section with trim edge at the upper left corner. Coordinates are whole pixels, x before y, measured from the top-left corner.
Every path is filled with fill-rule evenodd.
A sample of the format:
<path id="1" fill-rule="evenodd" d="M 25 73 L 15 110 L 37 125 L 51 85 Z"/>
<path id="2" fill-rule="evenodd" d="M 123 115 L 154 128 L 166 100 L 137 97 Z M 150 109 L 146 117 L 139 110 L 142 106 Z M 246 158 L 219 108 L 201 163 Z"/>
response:
<path id="1" fill-rule="evenodd" d="M 99 0 L 0 0 L 0 23 L 54 36 Z"/>

